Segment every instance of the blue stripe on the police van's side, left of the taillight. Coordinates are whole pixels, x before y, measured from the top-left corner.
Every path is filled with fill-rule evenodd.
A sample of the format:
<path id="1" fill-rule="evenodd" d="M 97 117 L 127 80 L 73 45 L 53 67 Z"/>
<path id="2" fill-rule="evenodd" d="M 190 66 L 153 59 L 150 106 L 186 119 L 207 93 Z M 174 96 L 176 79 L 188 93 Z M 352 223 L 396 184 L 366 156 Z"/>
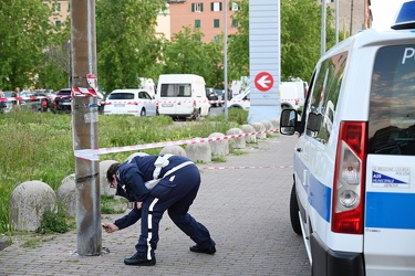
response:
<path id="1" fill-rule="evenodd" d="M 303 171 L 307 170 L 305 164 L 294 155 L 294 170 L 298 177 L 303 182 Z M 315 209 L 315 211 L 323 217 L 326 222 L 330 222 L 331 216 L 331 191 L 330 187 L 321 183 L 314 176 L 309 177 L 309 191 L 308 187 L 302 185 L 302 188 L 308 193 L 310 204 Z M 300 184 L 300 183 L 298 183 Z"/>

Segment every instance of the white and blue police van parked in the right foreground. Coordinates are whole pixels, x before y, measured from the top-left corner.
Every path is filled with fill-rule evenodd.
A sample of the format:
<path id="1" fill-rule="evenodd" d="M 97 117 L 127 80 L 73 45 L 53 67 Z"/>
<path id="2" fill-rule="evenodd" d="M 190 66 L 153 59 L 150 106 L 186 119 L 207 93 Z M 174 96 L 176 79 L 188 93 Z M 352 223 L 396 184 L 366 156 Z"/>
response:
<path id="1" fill-rule="evenodd" d="M 415 1 L 318 62 L 298 135 L 290 216 L 311 275 L 415 275 Z"/>

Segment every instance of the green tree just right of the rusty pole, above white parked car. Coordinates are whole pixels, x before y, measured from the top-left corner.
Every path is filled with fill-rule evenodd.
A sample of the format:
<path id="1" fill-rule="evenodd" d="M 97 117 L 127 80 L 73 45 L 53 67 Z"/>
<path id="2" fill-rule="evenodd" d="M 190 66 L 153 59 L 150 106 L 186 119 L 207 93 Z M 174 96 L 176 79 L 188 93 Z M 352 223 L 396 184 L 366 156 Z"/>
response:
<path id="1" fill-rule="evenodd" d="M 96 1 L 97 73 L 105 91 L 137 87 L 139 77 L 158 76 L 164 40 L 155 25 L 165 7 L 165 0 Z"/>

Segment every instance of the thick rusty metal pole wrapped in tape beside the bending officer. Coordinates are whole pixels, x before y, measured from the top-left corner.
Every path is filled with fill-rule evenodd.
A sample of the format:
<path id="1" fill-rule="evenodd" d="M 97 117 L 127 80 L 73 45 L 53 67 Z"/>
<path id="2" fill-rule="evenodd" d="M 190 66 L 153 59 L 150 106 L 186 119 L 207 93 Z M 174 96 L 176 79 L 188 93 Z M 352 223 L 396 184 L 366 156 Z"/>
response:
<path id="1" fill-rule="evenodd" d="M 96 76 L 95 0 L 72 1 L 72 84 L 87 88 L 87 74 Z M 73 148 L 98 148 L 97 97 L 73 96 Z M 102 251 L 100 161 L 75 157 L 77 254 Z"/>

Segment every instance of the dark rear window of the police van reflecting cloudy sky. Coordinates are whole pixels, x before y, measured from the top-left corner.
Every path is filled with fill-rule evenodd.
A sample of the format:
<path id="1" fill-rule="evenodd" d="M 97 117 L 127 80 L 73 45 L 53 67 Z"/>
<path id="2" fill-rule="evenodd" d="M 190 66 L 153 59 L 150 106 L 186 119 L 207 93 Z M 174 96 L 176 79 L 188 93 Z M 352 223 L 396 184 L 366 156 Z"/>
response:
<path id="1" fill-rule="evenodd" d="M 415 45 L 385 46 L 373 66 L 369 153 L 415 155 Z"/>

